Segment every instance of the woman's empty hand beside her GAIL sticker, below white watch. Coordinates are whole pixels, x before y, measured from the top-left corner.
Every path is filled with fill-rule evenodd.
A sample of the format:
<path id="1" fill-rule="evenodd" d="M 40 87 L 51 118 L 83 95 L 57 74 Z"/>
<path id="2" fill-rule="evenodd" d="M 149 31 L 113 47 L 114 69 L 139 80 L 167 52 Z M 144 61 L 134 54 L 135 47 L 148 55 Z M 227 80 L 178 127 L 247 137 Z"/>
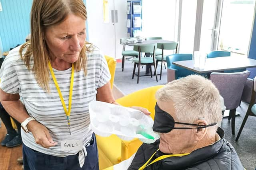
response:
<path id="1" fill-rule="evenodd" d="M 36 143 L 42 147 L 49 148 L 57 144 L 57 142 L 52 140 L 49 130 L 38 121 L 30 121 L 27 127 L 28 130 L 33 134 Z"/>

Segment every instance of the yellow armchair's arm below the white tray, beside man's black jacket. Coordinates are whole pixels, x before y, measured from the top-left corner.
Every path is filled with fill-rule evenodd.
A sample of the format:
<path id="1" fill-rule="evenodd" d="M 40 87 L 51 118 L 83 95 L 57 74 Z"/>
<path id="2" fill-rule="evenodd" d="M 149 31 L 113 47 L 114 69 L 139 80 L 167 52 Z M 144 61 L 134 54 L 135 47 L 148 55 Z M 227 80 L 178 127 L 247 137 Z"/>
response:
<path id="1" fill-rule="evenodd" d="M 138 148 L 142 145 L 142 141 L 138 138 L 135 138 L 131 141 L 122 141 L 121 143 L 121 160 L 126 160 L 130 158 Z"/>

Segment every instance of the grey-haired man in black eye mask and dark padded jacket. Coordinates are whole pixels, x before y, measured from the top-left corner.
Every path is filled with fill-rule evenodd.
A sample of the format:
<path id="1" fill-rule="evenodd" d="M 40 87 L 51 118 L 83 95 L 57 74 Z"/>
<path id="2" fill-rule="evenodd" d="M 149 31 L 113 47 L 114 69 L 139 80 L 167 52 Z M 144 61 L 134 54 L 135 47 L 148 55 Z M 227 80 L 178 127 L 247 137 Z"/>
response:
<path id="1" fill-rule="evenodd" d="M 244 169 L 217 125 L 222 120 L 220 94 L 210 80 L 196 75 L 174 80 L 156 92 L 156 100 L 153 130 L 160 139 L 142 144 L 123 169 Z"/>

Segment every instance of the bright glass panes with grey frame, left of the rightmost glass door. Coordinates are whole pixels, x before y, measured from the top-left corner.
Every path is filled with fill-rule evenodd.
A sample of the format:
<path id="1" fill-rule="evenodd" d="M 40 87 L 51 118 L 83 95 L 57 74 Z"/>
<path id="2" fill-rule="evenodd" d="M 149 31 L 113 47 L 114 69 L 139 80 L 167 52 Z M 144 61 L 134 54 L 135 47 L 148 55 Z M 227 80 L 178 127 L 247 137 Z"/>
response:
<path id="1" fill-rule="evenodd" d="M 218 42 L 220 0 L 180 0 L 179 53 L 211 51 Z"/>

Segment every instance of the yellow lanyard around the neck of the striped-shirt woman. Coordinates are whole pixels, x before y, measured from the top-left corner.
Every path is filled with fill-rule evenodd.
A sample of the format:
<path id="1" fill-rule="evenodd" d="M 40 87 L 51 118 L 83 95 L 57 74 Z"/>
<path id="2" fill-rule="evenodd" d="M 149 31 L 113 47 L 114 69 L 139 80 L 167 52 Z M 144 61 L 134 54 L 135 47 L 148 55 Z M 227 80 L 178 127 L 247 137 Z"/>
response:
<path id="1" fill-rule="evenodd" d="M 66 113 L 66 117 L 67 117 L 67 120 L 68 120 L 68 129 L 69 129 L 69 133 L 71 135 L 71 131 L 70 131 L 70 111 L 71 111 L 71 105 L 72 105 L 72 92 L 73 92 L 73 83 L 74 83 L 74 64 L 72 63 L 72 72 L 71 72 L 71 81 L 70 81 L 70 90 L 69 90 L 69 100 L 68 100 L 68 110 L 67 110 L 66 104 L 64 102 L 63 96 L 62 96 L 62 94 L 60 92 L 60 87 L 59 87 L 58 82 L 56 80 L 55 74 L 54 74 L 54 72 L 52 70 L 52 65 L 51 65 L 50 61 L 48 61 L 48 66 L 50 68 L 50 72 L 52 74 L 52 79 L 54 81 L 56 89 L 58 90 L 58 94 L 60 96 L 60 100 L 61 100 L 62 106 L 63 106 L 64 111 Z"/>

